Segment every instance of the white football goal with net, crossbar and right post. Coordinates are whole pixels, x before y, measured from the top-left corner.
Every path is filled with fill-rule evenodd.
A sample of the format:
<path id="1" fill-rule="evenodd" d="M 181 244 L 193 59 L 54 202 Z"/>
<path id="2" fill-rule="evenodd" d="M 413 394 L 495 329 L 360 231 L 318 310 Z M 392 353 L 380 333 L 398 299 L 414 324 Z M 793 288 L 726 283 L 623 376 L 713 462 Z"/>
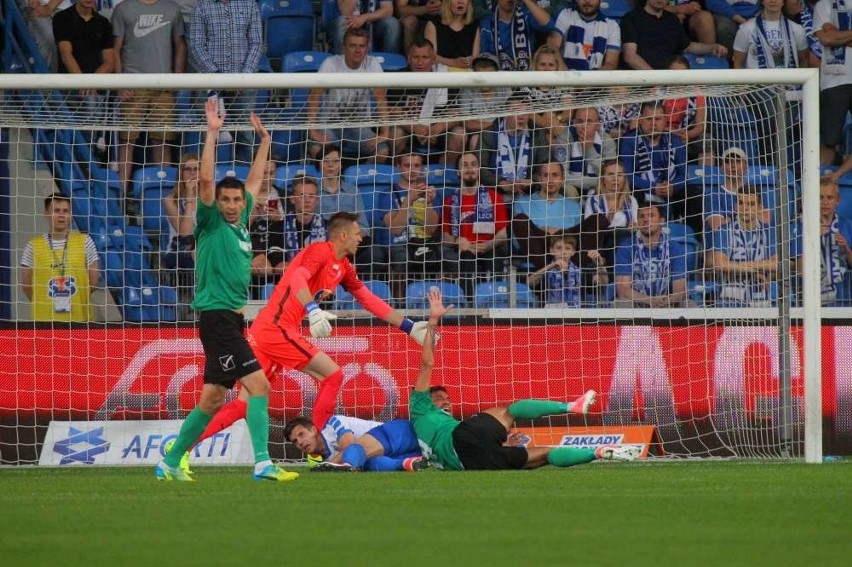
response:
<path id="1" fill-rule="evenodd" d="M 817 461 L 825 423 L 832 451 L 849 446 L 841 354 L 826 349 L 820 373 L 823 341 L 845 336 L 821 327 L 820 302 L 842 317 L 852 295 L 845 257 L 820 268 L 815 74 L 0 79 L 3 464 L 156 462 L 194 406 L 192 210 L 211 97 L 226 113 L 217 179 L 248 174 L 250 111 L 273 140 L 249 319 L 331 214 L 356 212 L 353 261 L 375 294 L 414 318 L 433 287 L 455 306 L 434 383 L 459 418 L 594 389 L 587 416 L 519 423 L 516 439 Z M 85 246 L 52 245 L 63 202 Z M 344 370 L 339 411 L 406 417 L 417 344 L 342 288 L 325 307 L 340 316 L 317 341 Z M 273 456 L 300 458 L 282 426 L 310 414 L 317 385 L 271 378 Z M 196 458 L 239 461 L 241 431 Z"/>

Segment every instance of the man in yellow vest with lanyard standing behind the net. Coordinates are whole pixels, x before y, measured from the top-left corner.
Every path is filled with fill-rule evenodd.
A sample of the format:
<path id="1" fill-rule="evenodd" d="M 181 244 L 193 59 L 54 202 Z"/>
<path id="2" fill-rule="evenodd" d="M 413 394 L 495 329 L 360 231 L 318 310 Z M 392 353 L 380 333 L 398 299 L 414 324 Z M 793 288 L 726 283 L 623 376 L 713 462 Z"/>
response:
<path id="1" fill-rule="evenodd" d="M 35 321 L 91 321 L 92 288 L 98 283 L 98 251 L 88 234 L 71 230 L 71 200 L 44 200 L 50 227 L 33 237 L 21 257 L 21 288 Z"/>

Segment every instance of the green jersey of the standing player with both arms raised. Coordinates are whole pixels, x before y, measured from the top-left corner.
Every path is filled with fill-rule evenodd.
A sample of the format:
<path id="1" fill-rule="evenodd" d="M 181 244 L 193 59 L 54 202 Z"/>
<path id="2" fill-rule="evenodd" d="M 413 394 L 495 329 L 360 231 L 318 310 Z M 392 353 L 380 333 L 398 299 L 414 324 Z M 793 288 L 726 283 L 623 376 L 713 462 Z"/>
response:
<path id="1" fill-rule="evenodd" d="M 246 192 L 246 208 L 240 222 L 225 220 L 214 201 L 209 207 L 198 199 L 195 213 L 196 311 L 240 309 L 248 299 L 251 281 L 249 213 L 254 199 Z"/>

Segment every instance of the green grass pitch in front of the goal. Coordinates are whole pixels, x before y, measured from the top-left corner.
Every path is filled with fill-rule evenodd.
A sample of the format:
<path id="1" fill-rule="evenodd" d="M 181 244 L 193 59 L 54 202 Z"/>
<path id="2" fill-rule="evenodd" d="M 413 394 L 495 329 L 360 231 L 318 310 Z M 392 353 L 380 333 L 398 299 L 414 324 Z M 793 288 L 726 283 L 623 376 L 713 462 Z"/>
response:
<path id="1" fill-rule="evenodd" d="M 852 464 L 0 469 L 0 565 L 852 565 Z"/>

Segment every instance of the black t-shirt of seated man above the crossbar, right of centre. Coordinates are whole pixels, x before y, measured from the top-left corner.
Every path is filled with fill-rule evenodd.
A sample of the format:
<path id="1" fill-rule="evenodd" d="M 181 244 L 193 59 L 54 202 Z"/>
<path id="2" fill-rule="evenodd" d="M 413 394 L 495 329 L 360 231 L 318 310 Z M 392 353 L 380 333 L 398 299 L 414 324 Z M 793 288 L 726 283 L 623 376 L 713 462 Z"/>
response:
<path id="1" fill-rule="evenodd" d="M 635 43 L 637 54 L 654 69 L 667 69 L 671 60 L 689 46 L 689 36 L 677 16 L 653 16 L 636 8 L 621 20 L 621 45 Z"/>

